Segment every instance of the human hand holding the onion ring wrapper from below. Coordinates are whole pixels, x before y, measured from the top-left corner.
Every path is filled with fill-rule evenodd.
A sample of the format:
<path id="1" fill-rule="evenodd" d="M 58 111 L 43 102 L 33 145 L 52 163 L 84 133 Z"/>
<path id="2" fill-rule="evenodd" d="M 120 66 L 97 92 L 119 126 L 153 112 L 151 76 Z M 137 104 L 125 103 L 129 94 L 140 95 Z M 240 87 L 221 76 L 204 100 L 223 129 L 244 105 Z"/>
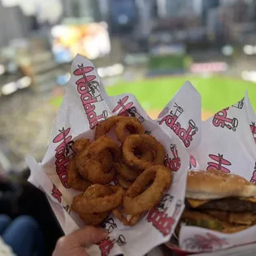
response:
<path id="1" fill-rule="evenodd" d="M 87 226 L 61 237 L 55 247 L 53 256 L 88 256 L 85 247 L 97 244 L 107 238 L 107 231 Z"/>

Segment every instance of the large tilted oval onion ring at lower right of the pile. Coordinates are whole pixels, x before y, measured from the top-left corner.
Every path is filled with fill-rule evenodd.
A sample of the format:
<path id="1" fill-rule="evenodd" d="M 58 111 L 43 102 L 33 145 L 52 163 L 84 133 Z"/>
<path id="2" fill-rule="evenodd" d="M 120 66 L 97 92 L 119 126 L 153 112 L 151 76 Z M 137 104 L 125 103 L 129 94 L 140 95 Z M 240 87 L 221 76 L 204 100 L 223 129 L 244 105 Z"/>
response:
<path id="1" fill-rule="evenodd" d="M 145 169 L 126 191 L 123 198 L 126 213 L 134 216 L 153 208 L 163 197 L 164 191 L 170 187 L 171 175 L 170 169 L 163 165 Z M 152 184 L 149 185 L 150 183 Z"/>

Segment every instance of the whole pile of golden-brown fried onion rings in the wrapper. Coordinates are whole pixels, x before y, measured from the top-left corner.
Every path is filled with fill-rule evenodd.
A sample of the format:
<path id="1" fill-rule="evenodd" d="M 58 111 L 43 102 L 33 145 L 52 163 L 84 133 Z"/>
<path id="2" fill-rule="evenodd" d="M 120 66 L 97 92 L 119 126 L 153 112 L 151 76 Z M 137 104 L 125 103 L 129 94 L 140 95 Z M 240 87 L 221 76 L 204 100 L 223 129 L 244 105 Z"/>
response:
<path id="1" fill-rule="evenodd" d="M 135 117 L 107 118 L 96 127 L 94 141 L 78 139 L 73 150 L 68 182 L 82 193 L 73 197 L 71 209 L 87 225 L 100 225 L 112 213 L 133 226 L 171 186 L 164 146 Z"/>

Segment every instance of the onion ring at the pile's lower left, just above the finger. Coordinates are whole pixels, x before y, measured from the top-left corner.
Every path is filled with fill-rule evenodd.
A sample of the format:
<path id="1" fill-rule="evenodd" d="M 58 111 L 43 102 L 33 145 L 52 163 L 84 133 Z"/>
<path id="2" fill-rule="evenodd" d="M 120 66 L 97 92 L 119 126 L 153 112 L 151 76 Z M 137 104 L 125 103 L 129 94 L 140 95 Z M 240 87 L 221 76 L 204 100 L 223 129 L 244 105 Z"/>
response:
<path id="1" fill-rule="evenodd" d="M 100 197 L 88 197 L 88 190 L 92 193 L 97 191 L 99 187 L 105 189 L 102 185 L 96 184 L 88 187 L 87 191 L 84 192 L 83 197 L 73 197 L 72 209 L 73 211 L 83 213 L 100 213 L 104 211 L 111 211 L 112 209 L 120 206 L 122 198 L 124 196 L 124 190 L 120 186 L 109 185 L 106 189 L 111 189 L 111 195 L 103 195 Z M 99 193 L 98 195 L 102 195 Z M 97 195 L 97 196 L 98 196 Z"/>

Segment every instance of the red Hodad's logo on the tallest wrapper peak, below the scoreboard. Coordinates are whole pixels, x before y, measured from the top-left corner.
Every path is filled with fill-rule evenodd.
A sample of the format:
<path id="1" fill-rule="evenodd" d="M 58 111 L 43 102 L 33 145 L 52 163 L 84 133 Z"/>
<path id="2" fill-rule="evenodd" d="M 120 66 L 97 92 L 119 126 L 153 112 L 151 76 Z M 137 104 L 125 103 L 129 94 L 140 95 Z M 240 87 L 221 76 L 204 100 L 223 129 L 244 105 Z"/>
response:
<path id="1" fill-rule="evenodd" d="M 100 85 L 95 80 L 95 75 L 86 75 L 86 73 L 92 72 L 93 67 L 84 67 L 83 64 L 78 65 L 78 69 L 73 71 L 75 76 L 82 76 L 76 81 L 77 91 L 80 94 L 83 108 L 88 117 L 90 123 L 90 129 L 92 130 L 100 121 L 107 118 L 107 111 L 104 110 L 100 114 L 97 114 L 95 103 L 102 102 L 103 98 L 100 92 Z"/>

